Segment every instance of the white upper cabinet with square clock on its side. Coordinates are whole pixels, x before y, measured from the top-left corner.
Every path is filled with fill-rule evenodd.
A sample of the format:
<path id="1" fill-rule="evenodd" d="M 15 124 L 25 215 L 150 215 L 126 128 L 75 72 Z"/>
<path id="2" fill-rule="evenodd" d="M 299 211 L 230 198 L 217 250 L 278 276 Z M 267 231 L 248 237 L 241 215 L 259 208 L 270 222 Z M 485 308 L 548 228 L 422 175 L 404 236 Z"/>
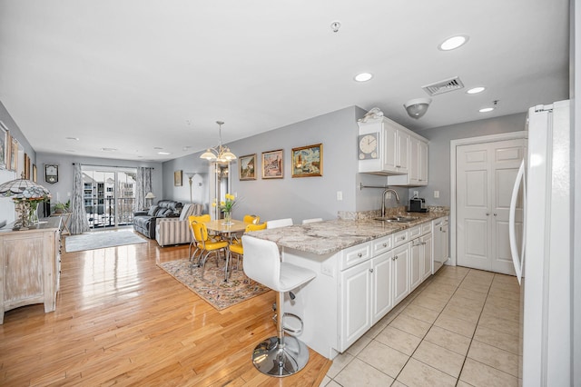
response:
<path id="1" fill-rule="evenodd" d="M 408 174 L 410 139 L 413 132 L 389 118 L 359 123 L 359 136 L 373 134 L 377 136 L 377 152 L 369 153 L 359 149 L 359 172 L 367 174 Z M 416 135 L 417 134 L 413 134 Z M 427 143 L 427 140 L 426 140 Z"/>

